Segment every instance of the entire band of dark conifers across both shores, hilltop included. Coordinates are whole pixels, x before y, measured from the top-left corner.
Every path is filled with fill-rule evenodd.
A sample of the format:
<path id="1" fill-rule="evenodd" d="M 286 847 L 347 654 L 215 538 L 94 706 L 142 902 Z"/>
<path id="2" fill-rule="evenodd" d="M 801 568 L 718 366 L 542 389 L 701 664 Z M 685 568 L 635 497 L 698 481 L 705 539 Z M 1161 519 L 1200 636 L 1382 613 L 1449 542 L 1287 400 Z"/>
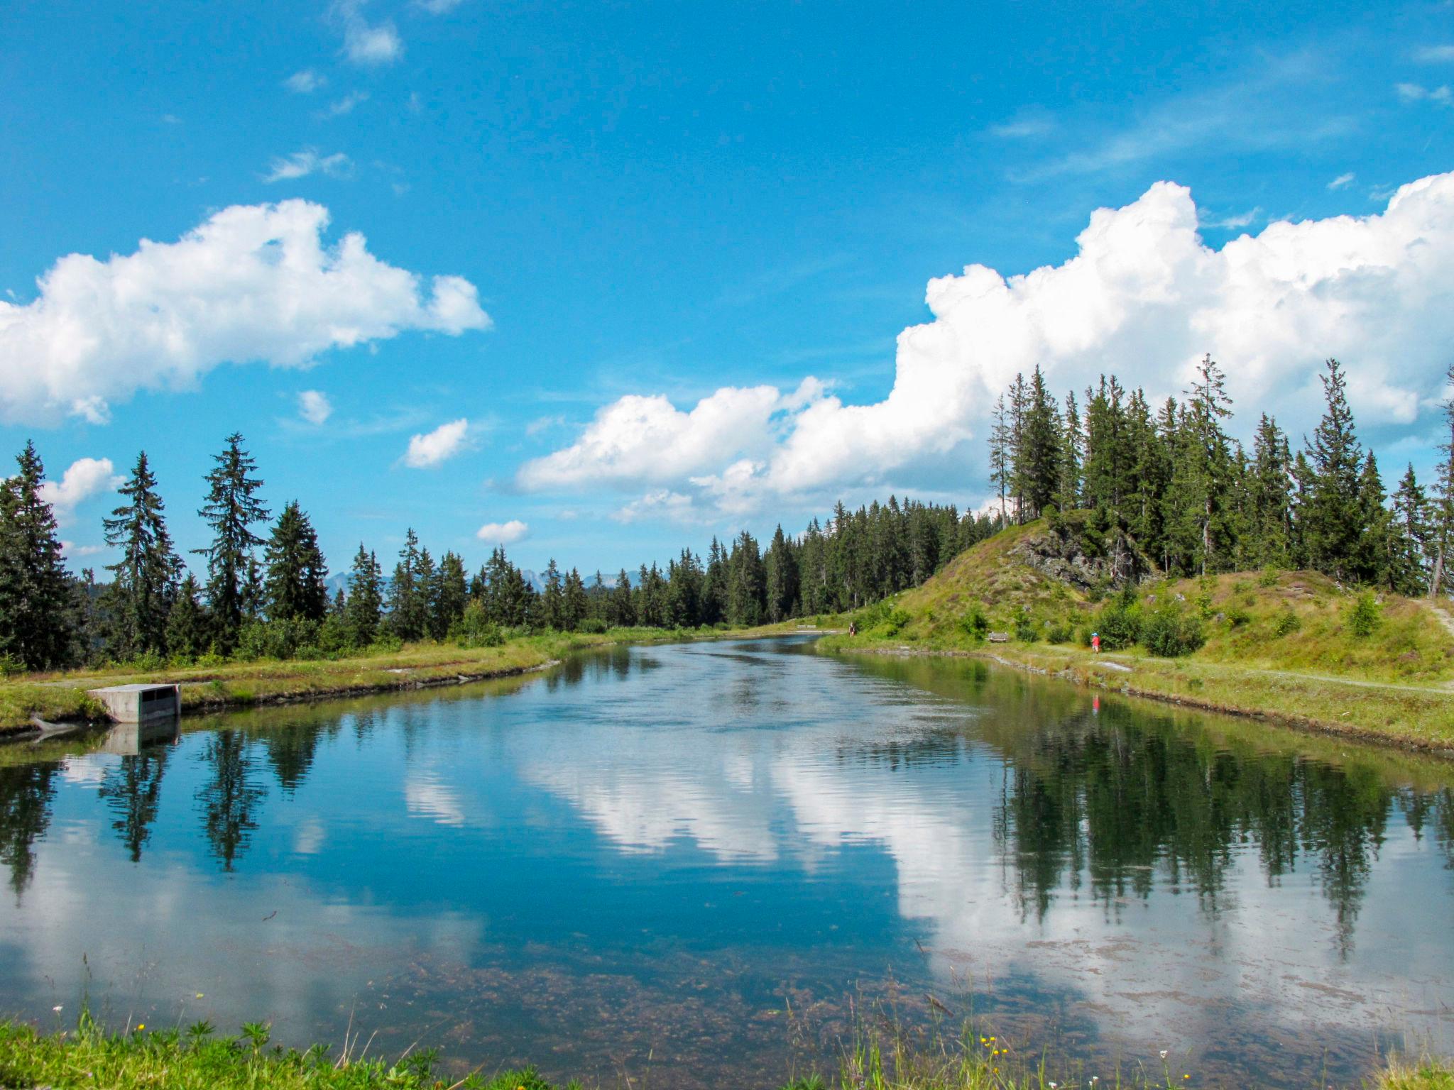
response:
<path id="1" fill-rule="evenodd" d="M 329 593 L 329 564 L 307 512 L 285 503 L 273 517 L 256 459 L 227 437 L 205 475 L 199 510 L 211 542 L 198 574 L 167 530 L 145 452 L 105 519 L 118 551 L 105 568 L 71 576 L 45 469 L 32 443 L 0 487 L 0 667 L 157 663 L 205 657 L 326 657 L 416 639 L 489 645 L 510 632 L 608 626 L 752 626 L 858 609 L 916 587 L 952 557 L 1008 522 L 1085 509 L 1099 530 L 1125 530 L 1165 573 L 1314 568 L 1349 584 L 1437 594 L 1454 529 L 1454 443 L 1432 491 L 1410 465 L 1387 494 L 1358 439 L 1346 375 L 1328 360 L 1326 407 L 1294 453 L 1262 414 L 1248 452 L 1226 421 L 1221 368 L 1204 358 L 1182 400 L 1153 411 L 1141 389 L 1111 375 L 1083 401 L 1057 400 L 1037 368 L 999 398 L 990 429 L 993 513 L 890 497 L 800 535 L 778 526 L 763 546 L 743 530 L 683 548 L 662 570 L 640 565 L 583 577 L 554 560 L 537 592 L 496 548 L 470 571 L 454 551 L 433 555 L 413 529 L 385 571 L 364 544 L 345 587 Z M 1451 368 L 1454 382 L 1454 368 Z M 1445 404 L 1454 436 L 1454 400 Z"/>

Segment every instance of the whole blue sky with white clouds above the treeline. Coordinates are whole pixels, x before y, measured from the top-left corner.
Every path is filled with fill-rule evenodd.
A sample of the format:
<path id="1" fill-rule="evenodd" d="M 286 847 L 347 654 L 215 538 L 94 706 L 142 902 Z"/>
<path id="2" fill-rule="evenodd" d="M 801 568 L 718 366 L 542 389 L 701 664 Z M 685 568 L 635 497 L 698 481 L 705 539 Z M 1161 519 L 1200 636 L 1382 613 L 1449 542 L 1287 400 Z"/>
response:
<path id="1" fill-rule="evenodd" d="M 1243 432 L 1345 358 L 1396 478 L 1454 343 L 1450 84 L 1448 4 L 13 0 L 0 449 L 77 467 L 74 564 L 142 448 L 201 545 L 240 430 L 334 570 L 409 525 L 615 570 L 977 504 L 1018 366 L 1165 395 L 1204 347 Z"/>

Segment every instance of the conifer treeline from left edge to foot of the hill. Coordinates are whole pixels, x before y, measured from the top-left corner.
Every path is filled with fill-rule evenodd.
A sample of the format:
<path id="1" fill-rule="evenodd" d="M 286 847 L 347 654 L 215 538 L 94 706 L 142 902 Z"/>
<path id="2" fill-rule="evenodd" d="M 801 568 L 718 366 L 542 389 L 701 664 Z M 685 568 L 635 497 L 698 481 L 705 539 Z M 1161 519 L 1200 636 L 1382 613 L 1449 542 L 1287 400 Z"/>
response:
<path id="1" fill-rule="evenodd" d="M 285 503 L 273 517 L 243 436 L 227 437 L 205 475 L 199 510 L 212 539 L 193 574 L 173 545 L 166 504 L 145 452 L 122 503 L 103 522 L 118 552 L 106 577 L 65 568 L 45 468 L 33 443 L 0 487 L 0 667 L 196 661 L 220 657 L 330 657 L 417 639 L 467 647 L 512 632 L 611 626 L 750 626 L 852 609 L 917 586 L 997 529 L 952 506 L 872 503 L 835 509 L 827 529 L 800 536 L 778 526 L 763 548 L 743 530 L 715 538 L 705 558 L 685 548 L 666 570 L 640 565 L 587 578 L 554 560 L 537 592 L 496 548 L 468 571 L 454 551 L 435 555 L 413 529 L 385 564 L 361 544 L 345 587 L 329 593 L 329 564 L 307 512 Z M 385 558 L 388 560 L 388 558 Z"/>

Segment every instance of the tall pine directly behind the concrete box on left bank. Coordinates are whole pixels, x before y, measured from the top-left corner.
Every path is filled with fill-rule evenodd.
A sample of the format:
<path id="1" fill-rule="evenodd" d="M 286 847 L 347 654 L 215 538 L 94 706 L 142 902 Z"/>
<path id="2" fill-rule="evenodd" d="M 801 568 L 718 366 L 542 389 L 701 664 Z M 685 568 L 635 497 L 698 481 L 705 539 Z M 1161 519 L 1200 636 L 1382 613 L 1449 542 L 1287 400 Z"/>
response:
<path id="1" fill-rule="evenodd" d="M 145 451 L 137 456 L 131 480 L 116 491 L 129 503 L 116 507 L 102 523 L 106 544 L 121 548 L 121 560 L 106 565 L 113 576 L 106 596 L 111 653 L 116 658 L 145 651 L 164 654 L 167 616 L 183 568 L 172 548 L 157 478 Z"/>

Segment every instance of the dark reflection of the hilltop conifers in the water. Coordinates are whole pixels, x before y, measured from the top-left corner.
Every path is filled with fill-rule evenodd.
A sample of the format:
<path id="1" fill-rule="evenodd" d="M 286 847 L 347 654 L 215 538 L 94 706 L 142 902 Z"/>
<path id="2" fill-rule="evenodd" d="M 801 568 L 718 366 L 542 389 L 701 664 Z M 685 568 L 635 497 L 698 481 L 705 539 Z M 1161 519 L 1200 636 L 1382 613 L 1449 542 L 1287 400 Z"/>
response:
<path id="1" fill-rule="evenodd" d="M 1159 871 L 1216 913 L 1234 857 L 1256 843 L 1269 882 L 1316 868 L 1346 953 L 1393 807 L 1454 846 L 1447 789 L 1402 792 L 1371 764 L 1229 751 L 1170 721 L 1138 722 L 1076 714 L 996 732 L 1011 759 L 996 830 L 1027 911 L 1043 917 L 1063 882 L 1082 881 L 1109 910 L 1149 897 Z"/>

